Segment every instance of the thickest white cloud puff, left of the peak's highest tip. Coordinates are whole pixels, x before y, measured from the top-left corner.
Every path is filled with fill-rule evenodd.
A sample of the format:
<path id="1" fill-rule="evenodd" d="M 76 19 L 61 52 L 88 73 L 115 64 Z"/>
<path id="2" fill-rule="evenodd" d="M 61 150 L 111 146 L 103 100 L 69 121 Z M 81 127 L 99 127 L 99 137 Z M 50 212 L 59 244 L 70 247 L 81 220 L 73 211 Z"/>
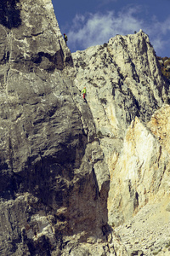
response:
<path id="1" fill-rule="evenodd" d="M 141 28 L 142 22 L 133 18 L 133 10 L 129 9 L 127 14 L 115 15 L 113 11 L 102 15 L 100 13 L 77 15 L 73 20 L 68 32 L 70 44 L 81 45 L 88 48 L 95 44 L 104 44 L 117 33 L 132 33 Z M 73 46 L 73 47 L 74 47 Z"/>

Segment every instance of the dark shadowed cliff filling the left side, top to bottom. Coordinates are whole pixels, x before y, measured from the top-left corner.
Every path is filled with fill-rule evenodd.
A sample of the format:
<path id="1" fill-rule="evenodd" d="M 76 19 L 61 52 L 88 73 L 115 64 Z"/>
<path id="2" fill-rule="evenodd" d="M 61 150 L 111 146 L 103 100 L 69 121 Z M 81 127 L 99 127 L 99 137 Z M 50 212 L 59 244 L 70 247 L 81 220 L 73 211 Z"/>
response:
<path id="1" fill-rule="evenodd" d="M 87 240 L 99 240 L 103 250 L 109 172 L 94 140 L 90 108 L 81 113 L 73 100 L 79 90 L 66 74 L 73 62 L 53 5 L 45 0 L 3 3 L 0 253 L 68 254 Z M 100 183 L 94 164 L 103 173 Z"/>

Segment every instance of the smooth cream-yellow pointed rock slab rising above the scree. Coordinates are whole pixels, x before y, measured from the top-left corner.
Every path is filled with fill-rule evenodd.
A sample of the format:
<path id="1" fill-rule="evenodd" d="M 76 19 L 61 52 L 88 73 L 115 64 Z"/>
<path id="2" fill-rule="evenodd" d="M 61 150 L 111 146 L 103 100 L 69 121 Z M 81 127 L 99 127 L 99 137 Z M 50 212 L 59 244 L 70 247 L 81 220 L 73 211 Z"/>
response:
<path id="1" fill-rule="evenodd" d="M 122 154 L 112 170 L 108 200 L 111 225 L 132 218 L 156 195 L 162 177 L 168 172 L 168 155 L 136 117 L 127 129 Z"/>

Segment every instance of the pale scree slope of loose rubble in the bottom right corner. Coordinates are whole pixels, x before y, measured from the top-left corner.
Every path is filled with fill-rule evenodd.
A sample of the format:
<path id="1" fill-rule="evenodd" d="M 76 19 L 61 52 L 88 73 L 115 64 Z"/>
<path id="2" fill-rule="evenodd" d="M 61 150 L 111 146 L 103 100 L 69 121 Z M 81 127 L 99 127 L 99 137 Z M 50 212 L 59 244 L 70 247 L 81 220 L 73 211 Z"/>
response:
<path id="1" fill-rule="evenodd" d="M 116 228 L 121 240 L 126 244 L 129 255 L 142 251 L 139 255 L 168 255 L 169 217 L 166 212 L 169 199 L 160 197 L 143 207 L 126 224 Z"/>

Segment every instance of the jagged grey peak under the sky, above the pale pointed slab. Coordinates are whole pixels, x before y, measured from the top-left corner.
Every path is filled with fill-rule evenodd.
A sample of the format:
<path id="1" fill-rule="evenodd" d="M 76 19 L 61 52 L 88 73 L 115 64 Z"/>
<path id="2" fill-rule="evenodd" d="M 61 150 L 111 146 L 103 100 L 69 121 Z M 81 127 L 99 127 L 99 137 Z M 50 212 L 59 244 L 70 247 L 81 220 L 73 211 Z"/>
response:
<path id="1" fill-rule="evenodd" d="M 97 131 L 124 137 L 131 121 L 144 122 L 160 108 L 168 94 L 156 54 L 148 36 L 136 34 L 111 38 L 72 54 L 75 84 L 87 87 L 87 99 Z"/>

